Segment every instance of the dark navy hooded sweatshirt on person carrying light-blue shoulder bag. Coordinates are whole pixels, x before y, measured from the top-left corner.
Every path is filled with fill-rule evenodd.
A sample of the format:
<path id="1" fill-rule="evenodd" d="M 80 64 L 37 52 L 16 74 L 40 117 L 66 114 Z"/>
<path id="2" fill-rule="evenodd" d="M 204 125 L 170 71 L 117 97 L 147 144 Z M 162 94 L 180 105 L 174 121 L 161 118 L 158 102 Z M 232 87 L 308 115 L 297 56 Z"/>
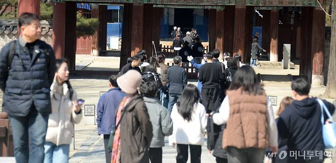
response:
<path id="1" fill-rule="evenodd" d="M 323 100 L 332 115 L 335 111 L 335 106 Z M 324 112 L 324 118 L 327 120 L 327 115 Z M 287 138 L 288 151 L 297 151 L 295 157 L 287 157 L 289 162 L 304 162 L 304 152 L 307 151 L 324 151 L 325 146 L 322 137 L 321 123 L 321 107 L 316 98 L 306 98 L 301 101 L 295 100 L 292 105 L 287 106 L 280 114 L 278 123 L 278 132 L 281 138 Z M 290 153 L 287 153 L 290 155 Z M 305 154 L 307 156 L 307 154 Z M 319 159 L 319 155 L 314 154 L 311 159 Z M 323 153 L 322 153 L 323 155 Z M 306 157 L 309 159 L 310 157 Z"/>

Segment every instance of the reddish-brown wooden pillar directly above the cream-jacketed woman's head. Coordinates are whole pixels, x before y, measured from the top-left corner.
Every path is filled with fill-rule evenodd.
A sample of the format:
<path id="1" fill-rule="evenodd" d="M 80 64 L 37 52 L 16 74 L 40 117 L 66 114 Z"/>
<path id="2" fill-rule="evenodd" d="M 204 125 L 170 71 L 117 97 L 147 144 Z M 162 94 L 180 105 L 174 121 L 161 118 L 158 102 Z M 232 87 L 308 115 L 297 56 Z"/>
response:
<path id="1" fill-rule="evenodd" d="M 52 47 L 57 59 L 64 57 L 65 3 L 53 3 Z"/>

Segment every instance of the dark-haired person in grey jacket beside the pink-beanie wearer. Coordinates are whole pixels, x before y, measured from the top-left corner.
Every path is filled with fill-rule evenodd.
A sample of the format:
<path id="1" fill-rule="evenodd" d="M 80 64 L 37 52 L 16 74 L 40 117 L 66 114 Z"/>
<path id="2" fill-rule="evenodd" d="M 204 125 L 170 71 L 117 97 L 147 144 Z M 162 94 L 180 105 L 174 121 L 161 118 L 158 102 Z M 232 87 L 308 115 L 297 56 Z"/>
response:
<path id="1" fill-rule="evenodd" d="M 146 104 L 153 126 L 153 138 L 149 148 L 149 158 L 153 163 L 160 163 L 162 162 L 164 136 L 170 136 L 173 133 L 173 122 L 168 110 L 155 97 L 157 88 L 154 82 L 146 82 L 140 90 L 144 96 L 143 102 Z"/>

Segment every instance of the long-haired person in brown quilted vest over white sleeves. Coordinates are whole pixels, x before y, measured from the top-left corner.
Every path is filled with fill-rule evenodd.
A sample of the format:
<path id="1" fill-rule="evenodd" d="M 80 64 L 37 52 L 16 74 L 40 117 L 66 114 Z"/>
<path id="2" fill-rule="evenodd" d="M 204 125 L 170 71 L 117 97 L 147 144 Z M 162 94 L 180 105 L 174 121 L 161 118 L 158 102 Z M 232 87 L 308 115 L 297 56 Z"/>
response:
<path id="1" fill-rule="evenodd" d="M 217 125 L 226 124 L 222 146 L 230 163 L 259 163 L 267 147 L 278 150 L 272 105 L 249 65 L 237 70 L 219 113 L 212 114 L 212 119 Z"/>

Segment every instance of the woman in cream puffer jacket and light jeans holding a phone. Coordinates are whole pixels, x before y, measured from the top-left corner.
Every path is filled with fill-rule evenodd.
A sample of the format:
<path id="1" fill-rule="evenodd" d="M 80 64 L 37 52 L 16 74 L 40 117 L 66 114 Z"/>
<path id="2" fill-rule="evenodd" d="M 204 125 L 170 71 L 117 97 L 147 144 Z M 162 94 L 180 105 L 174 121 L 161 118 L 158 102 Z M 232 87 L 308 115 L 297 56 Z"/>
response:
<path id="1" fill-rule="evenodd" d="M 44 144 L 44 163 L 68 162 L 73 124 L 82 119 L 81 105 L 71 87 L 67 61 L 56 60 L 55 79 L 51 86 L 52 114 L 49 115 Z"/>

